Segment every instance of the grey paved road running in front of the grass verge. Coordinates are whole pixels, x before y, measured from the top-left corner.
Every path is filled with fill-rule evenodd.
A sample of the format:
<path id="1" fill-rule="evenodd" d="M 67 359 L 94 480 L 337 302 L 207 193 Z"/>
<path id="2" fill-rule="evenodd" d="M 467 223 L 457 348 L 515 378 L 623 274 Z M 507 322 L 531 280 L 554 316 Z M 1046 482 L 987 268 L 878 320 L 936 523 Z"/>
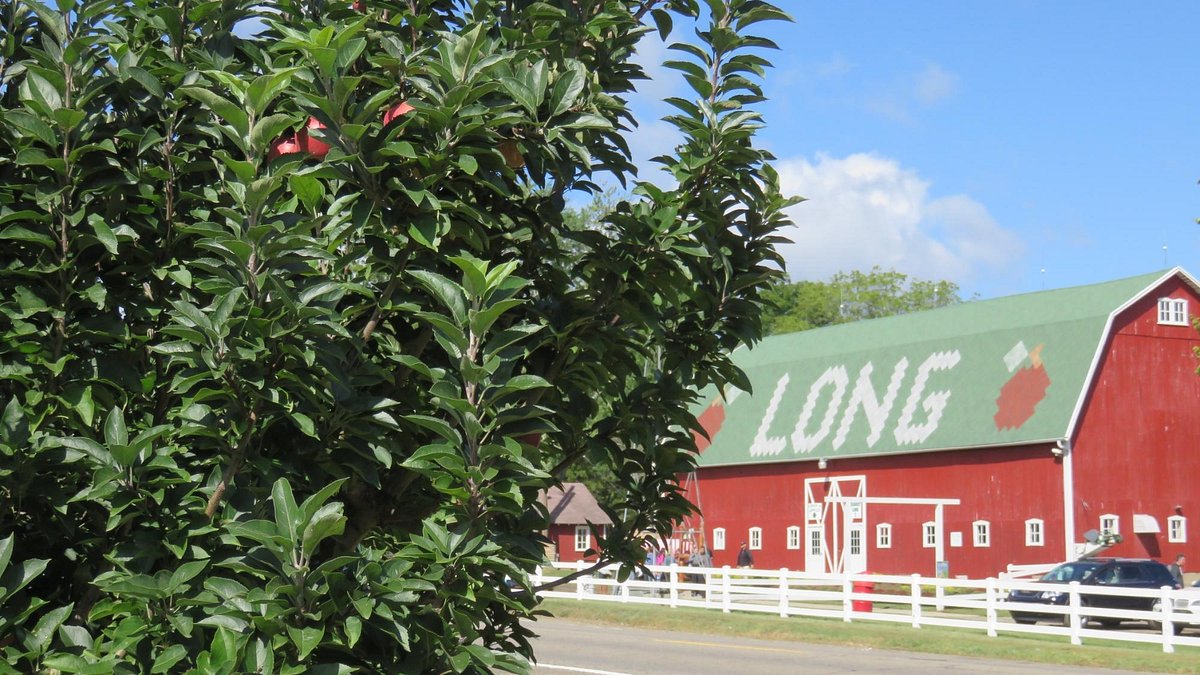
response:
<path id="1" fill-rule="evenodd" d="M 1064 668 L 1014 661 L 912 653 L 864 647 L 748 640 L 698 633 L 592 626 L 542 619 L 534 628 L 539 675 L 775 675 L 803 673 L 982 673 L 989 675 L 1114 675 L 1128 670 Z"/>

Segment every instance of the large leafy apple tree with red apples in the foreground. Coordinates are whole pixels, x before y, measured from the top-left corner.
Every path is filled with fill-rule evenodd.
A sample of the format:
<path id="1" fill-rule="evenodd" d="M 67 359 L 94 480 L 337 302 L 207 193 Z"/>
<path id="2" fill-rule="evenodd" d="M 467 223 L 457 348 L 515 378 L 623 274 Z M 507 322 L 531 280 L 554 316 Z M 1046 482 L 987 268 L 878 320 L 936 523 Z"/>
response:
<path id="1" fill-rule="evenodd" d="M 613 467 L 629 562 L 691 508 L 792 203 L 784 14 L 355 5 L 0 4 L 0 671 L 522 670 L 541 490 Z M 677 185 L 572 228 L 673 17 Z"/>

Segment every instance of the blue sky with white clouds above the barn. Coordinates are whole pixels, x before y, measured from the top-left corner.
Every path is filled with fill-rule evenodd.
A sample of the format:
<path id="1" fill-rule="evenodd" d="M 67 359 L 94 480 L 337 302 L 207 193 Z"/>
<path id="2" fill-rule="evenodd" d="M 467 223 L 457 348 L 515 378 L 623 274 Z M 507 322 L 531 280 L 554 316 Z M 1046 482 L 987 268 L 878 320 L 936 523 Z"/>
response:
<path id="1" fill-rule="evenodd" d="M 809 199 L 793 279 L 878 264 L 988 298 L 1200 273 L 1200 4 L 780 5 L 761 143 Z M 653 101 L 686 94 L 652 72 L 640 160 L 673 145 Z"/>

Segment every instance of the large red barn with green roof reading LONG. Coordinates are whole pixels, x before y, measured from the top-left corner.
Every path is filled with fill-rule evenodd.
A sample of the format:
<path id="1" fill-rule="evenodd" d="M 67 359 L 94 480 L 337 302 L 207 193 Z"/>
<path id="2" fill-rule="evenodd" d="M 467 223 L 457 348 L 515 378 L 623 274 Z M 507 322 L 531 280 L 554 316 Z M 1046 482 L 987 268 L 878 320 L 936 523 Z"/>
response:
<path id="1" fill-rule="evenodd" d="M 1181 269 L 775 335 L 706 393 L 715 565 L 985 577 L 1200 560 L 1196 281 Z M 698 502 L 697 502 L 698 500 Z"/>

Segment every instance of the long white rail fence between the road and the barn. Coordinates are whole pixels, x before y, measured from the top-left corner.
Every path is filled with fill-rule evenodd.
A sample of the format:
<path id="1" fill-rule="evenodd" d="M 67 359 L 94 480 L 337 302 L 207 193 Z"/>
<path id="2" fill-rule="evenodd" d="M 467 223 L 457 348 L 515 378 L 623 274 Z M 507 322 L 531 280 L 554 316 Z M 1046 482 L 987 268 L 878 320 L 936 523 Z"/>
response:
<path id="1" fill-rule="evenodd" d="M 583 563 L 552 563 L 557 574 L 538 574 L 534 586 L 553 577 L 583 569 Z M 947 626 L 1000 633 L 1061 635 L 1074 645 L 1085 639 L 1162 644 L 1164 652 L 1176 646 L 1200 647 L 1200 626 L 1192 634 L 1176 635 L 1175 599 L 1186 591 L 1141 590 L 1070 584 L 1043 584 L 1015 577 L 989 579 L 938 579 L 913 574 L 808 574 L 788 569 L 731 569 L 678 566 L 649 566 L 661 578 L 625 581 L 616 579 L 617 567 L 586 574 L 559 590 L 542 591 L 541 597 L 578 601 L 694 607 L 721 611 L 758 611 L 779 616 L 816 616 L 842 621 L 890 621 L 922 626 Z M 1013 590 L 1061 591 L 1069 593 L 1066 605 L 1009 602 Z M 1162 611 L 1086 607 L 1087 596 L 1158 598 Z M 1150 603 L 1147 603 L 1150 604 Z M 1008 611 L 1064 616 L 1063 625 L 1022 625 L 1008 619 Z M 1189 615 L 1190 616 L 1190 615 Z M 1099 629 L 1096 622 L 1156 621 L 1160 631 Z"/>

